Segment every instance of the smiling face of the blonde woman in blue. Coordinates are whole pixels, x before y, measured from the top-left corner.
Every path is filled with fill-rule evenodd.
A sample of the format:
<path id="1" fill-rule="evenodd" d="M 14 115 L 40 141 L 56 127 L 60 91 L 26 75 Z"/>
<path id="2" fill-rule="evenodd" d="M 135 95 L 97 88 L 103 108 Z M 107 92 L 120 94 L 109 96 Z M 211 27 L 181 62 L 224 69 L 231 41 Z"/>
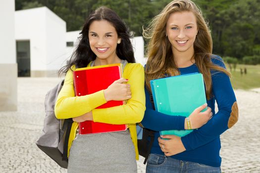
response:
<path id="1" fill-rule="evenodd" d="M 198 32 L 195 15 L 190 11 L 170 14 L 166 23 L 166 34 L 173 53 L 192 53 Z"/>

